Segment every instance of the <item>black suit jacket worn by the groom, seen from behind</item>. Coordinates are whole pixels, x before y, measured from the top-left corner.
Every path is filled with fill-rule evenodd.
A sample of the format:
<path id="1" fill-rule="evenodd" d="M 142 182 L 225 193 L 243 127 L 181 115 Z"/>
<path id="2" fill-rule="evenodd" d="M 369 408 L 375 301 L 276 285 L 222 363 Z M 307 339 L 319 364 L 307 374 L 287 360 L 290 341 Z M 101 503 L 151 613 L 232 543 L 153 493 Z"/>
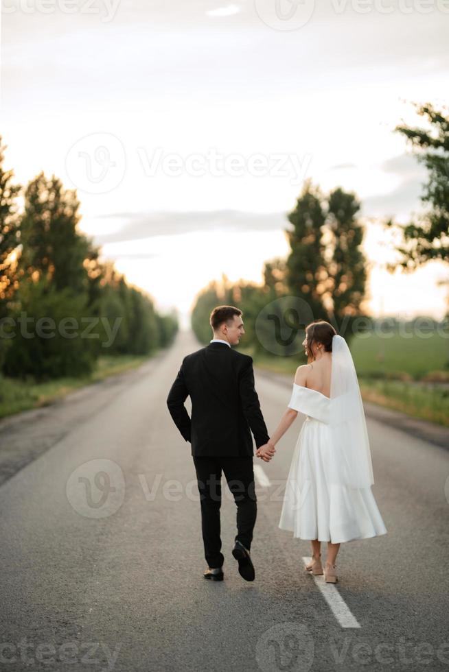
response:
<path id="1" fill-rule="evenodd" d="M 192 418 L 184 406 L 187 396 Z M 184 357 L 167 405 L 194 456 L 253 455 L 251 431 L 257 448 L 269 440 L 254 389 L 253 359 L 225 343 L 210 343 Z"/>

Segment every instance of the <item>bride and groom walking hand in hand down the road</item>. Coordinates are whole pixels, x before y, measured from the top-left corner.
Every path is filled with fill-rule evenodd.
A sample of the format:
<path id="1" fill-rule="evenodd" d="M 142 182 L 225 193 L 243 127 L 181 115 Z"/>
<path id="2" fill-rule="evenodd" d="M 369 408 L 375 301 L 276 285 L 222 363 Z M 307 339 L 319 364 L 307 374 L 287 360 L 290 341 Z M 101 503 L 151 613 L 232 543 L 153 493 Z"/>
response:
<path id="1" fill-rule="evenodd" d="M 279 527 L 310 540 L 306 570 L 335 583 L 341 542 L 370 538 L 387 529 L 371 485 L 369 439 L 354 362 L 345 339 L 323 320 L 306 326 L 308 364 L 298 367 L 288 407 L 269 436 L 254 387 L 253 360 L 231 346 L 244 335 L 242 311 L 218 306 L 210 315 L 209 345 L 184 357 L 167 405 L 176 427 L 190 442 L 200 494 L 205 579 L 224 577 L 221 552 L 221 477 L 224 472 L 237 505 L 232 549 L 238 571 L 253 581 L 251 542 L 257 516 L 253 473 L 256 457 L 270 461 L 276 444 L 297 417 L 306 415 L 290 470 Z M 192 401 L 192 418 L 184 402 Z M 327 559 L 321 562 L 321 542 Z"/>

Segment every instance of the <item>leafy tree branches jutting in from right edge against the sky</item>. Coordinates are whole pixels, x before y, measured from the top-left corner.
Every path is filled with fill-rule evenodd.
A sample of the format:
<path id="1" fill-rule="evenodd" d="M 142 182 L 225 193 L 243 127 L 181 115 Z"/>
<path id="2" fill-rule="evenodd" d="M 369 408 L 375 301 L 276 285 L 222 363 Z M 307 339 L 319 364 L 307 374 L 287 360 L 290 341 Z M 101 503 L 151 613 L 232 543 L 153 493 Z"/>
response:
<path id="1" fill-rule="evenodd" d="M 421 196 L 424 213 L 403 228 L 404 245 L 398 248 L 400 265 L 413 271 L 432 259 L 448 261 L 449 254 L 449 116 L 448 111 L 433 105 L 417 105 L 417 114 L 427 128 L 398 125 L 416 153 L 417 160 L 428 171 Z M 389 226 L 393 225 L 390 221 Z M 390 266 L 393 270 L 393 267 Z"/>

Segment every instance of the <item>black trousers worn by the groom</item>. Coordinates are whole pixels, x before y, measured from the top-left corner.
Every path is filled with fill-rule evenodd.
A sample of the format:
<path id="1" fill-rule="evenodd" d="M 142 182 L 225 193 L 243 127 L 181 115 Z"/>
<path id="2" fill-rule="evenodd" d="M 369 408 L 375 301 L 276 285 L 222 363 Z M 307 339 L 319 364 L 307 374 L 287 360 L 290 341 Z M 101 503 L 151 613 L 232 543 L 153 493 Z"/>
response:
<path id="1" fill-rule="evenodd" d="M 205 559 L 210 568 L 221 567 L 225 560 L 220 538 L 221 475 L 225 473 L 237 505 L 235 540 L 249 550 L 257 516 L 253 456 L 194 457 L 194 465 L 200 493 Z"/>

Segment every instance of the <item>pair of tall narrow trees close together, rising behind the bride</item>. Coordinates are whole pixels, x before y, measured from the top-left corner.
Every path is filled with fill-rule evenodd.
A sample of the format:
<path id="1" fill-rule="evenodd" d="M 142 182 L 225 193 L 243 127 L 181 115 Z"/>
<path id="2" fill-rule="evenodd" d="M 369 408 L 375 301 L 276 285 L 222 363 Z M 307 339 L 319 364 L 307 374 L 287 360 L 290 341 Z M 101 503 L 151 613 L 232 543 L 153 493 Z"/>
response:
<path id="1" fill-rule="evenodd" d="M 327 320 L 347 336 L 354 317 L 360 315 L 367 280 L 359 210 L 353 193 L 338 187 L 326 197 L 306 182 L 288 215 L 293 230 L 287 232 L 292 248 L 287 283 L 290 293 L 308 306 L 301 322 Z"/>

